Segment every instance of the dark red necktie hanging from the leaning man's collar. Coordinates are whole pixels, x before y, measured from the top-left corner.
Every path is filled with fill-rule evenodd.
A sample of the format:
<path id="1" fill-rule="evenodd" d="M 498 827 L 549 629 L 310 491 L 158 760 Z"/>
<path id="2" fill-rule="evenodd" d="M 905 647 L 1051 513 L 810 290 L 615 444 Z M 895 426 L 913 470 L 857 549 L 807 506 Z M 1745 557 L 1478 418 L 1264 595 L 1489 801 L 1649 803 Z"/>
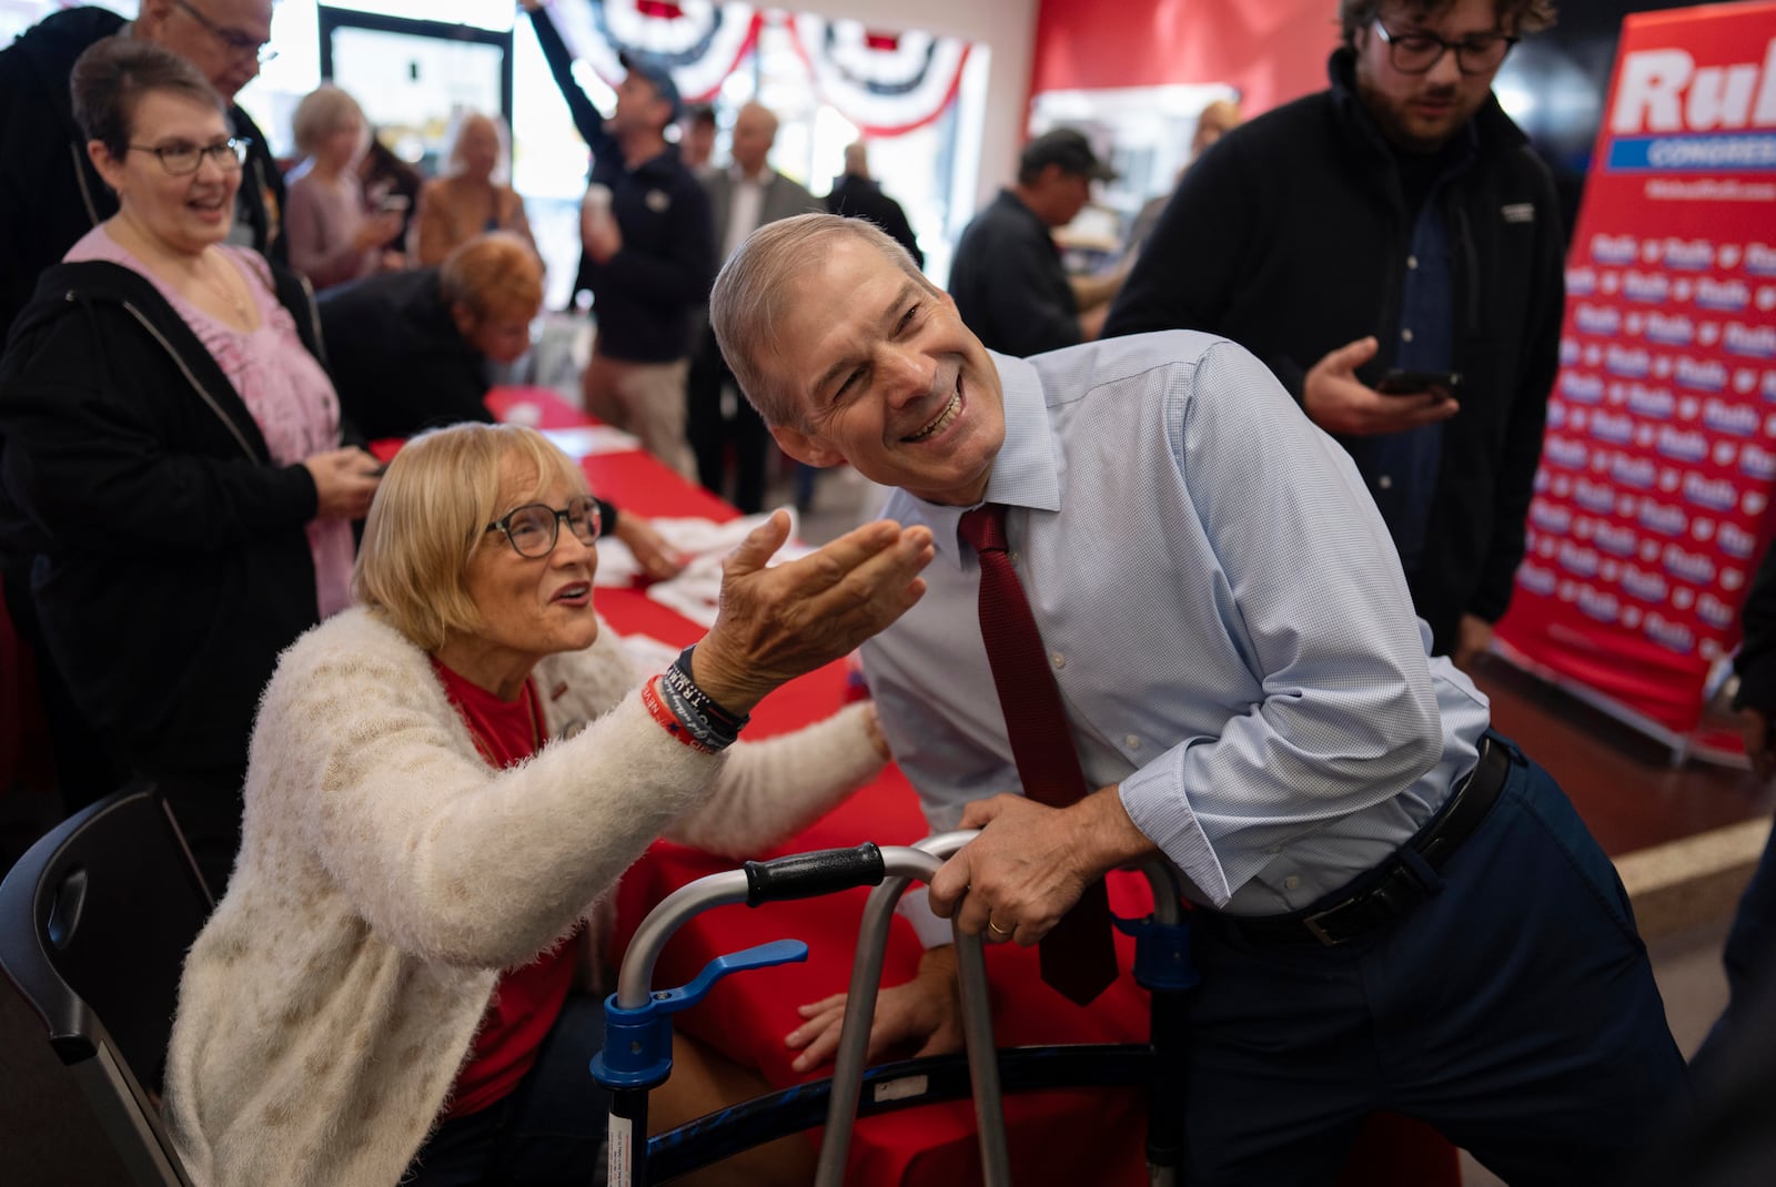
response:
<path id="1" fill-rule="evenodd" d="M 980 557 L 980 637 L 987 644 L 1023 793 L 1037 804 L 1066 807 L 1090 788 L 1043 635 L 1005 550 L 1005 507 L 987 504 L 968 511 L 961 532 Z M 1082 1006 L 1115 981 L 1110 900 L 1101 880 L 1085 887 L 1073 910 L 1043 937 L 1041 962 L 1043 979 Z"/>

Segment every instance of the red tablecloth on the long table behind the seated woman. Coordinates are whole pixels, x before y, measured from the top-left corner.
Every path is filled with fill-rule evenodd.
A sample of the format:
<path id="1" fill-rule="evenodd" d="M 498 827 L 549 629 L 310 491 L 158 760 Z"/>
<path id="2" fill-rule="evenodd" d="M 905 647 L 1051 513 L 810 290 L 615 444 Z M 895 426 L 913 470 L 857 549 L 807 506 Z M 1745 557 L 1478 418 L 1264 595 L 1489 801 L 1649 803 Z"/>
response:
<path id="1" fill-rule="evenodd" d="M 542 410 L 540 428 L 584 424 L 583 413 L 536 389 L 496 389 L 488 408 L 501 413 L 513 403 Z M 641 452 L 599 454 L 583 460 L 593 490 L 620 507 L 648 516 L 700 515 L 716 520 L 735 511 L 668 467 Z M 639 589 L 599 589 L 599 610 L 623 633 L 646 633 L 686 644 L 702 630 Z M 753 713 L 748 738 L 796 729 L 835 711 L 844 701 L 844 665 L 831 664 L 771 694 Z M 927 827 L 913 790 L 895 768 L 828 813 L 803 834 L 769 853 L 776 857 L 860 841 L 908 845 Z M 623 876 L 618 892 L 618 944 L 627 942 L 641 917 L 666 894 L 693 878 L 732 869 L 728 859 L 659 843 Z M 1142 916 L 1151 908 L 1146 882 L 1112 876 L 1112 908 Z M 801 1018 L 796 1006 L 845 988 L 852 946 L 867 891 L 851 891 L 760 908 L 721 907 L 689 921 L 666 946 L 655 974 L 661 987 L 682 985 L 710 958 L 774 939 L 808 944 L 806 963 L 751 971 L 726 978 L 677 1026 L 710 1043 L 737 1063 L 758 1068 L 776 1088 L 797 1082 L 783 1034 Z M 1147 994 L 1128 976 L 1133 940 L 1117 937 L 1124 976 L 1090 1008 L 1080 1008 L 1050 990 L 1037 971 L 1035 949 L 993 946 L 987 976 L 993 987 L 995 1036 L 1014 1043 L 1126 1043 L 1147 1034 Z M 913 976 L 920 946 L 911 928 L 895 919 L 884 963 L 884 985 Z M 829 1068 L 828 1068 L 829 1072 Z M 1012 1095 L 1005 1121 L 1014 1180 L 1019 1187 L 1146 1183 L 1142 1155 L 1144 1102 L 1137 1091 L 1073 1091 Z M 815 1137 L 819 1137 L 815 1134 Z M 979 1182 L 973 1105 L 966 1100 L 861 1120 L 856 1127 L 847 1183 Z M 1431 1130 L 1403 1120 L 1371 1123 L 1343 1183 L 1357 1187 L 1439 1187 L 1458 1183 L 1455 1152 Z"/>

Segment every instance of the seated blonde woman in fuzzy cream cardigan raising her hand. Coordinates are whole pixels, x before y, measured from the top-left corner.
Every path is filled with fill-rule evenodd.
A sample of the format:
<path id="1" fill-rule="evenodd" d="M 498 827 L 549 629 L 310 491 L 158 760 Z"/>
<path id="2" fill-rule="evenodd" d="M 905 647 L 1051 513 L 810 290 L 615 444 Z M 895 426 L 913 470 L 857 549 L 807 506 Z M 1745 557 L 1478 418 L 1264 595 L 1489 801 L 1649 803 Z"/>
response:
<path id="1" fill-rule="evenodd" d="M 661 674 L 593 609 L 597 534 L 535 429 L 435 429 L 389 465 L 359 605 L 266 688 L 240 864 L 185 963 L 165 1084 L 195 1183 L 599 1182 L 604 1024 L 574 985 L 623 868 L 662 832 L 758 855 L 881 766 L 872 706 L 733 743 L 767 692 L 918 600 L 927 529 L 765 568 L 778 513 Z M 675 1059 L 655 1123 L 748 1095 L 694 1045 Z M 726 1182 L 810 1162 L 789 1139 Z"/>

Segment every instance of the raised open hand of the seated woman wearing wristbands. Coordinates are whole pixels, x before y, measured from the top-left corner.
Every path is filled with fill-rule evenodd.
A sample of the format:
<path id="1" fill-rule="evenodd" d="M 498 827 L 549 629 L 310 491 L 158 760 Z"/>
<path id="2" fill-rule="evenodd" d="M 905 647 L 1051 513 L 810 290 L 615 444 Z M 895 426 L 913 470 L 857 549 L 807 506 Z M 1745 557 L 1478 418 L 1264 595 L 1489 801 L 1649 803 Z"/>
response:
<path id="1" fill-rule="evenodd" d="M 789 539 L 778 511 L 721 566 L 716 625 L 691 656 L 698 687 L 749 713 L 778 685 L 829 664 L 906 614 L 925 593 L 931 529 L 876 520 L 776 568 Z"/>

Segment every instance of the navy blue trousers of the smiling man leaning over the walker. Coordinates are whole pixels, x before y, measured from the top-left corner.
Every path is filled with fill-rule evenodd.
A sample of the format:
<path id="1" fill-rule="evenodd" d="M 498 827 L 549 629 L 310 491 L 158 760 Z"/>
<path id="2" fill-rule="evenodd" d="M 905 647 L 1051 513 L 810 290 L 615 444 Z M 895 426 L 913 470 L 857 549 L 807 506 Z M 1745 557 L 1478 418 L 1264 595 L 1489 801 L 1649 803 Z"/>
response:
<path id="1" fill-rule="evenodd" d="M 1195 928 L 1185 1182 L 1330 1183 L 1371 1111 L 1513 1187 L 1621 1182 L 1687 1081 L 1614 866 L 1513 747 L 1431 880 L 1343 947 Z"/>

